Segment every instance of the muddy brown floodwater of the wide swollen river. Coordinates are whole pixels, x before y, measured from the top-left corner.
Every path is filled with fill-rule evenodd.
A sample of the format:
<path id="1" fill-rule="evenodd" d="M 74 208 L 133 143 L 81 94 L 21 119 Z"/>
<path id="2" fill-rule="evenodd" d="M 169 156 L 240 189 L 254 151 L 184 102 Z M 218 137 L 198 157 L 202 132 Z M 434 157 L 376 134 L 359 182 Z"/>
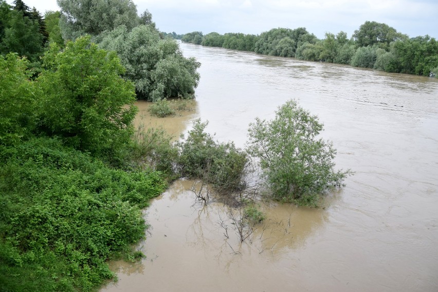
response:
<path id="1" fill-rule="evenodd" d="M 438 80 L 181 44 L 202 63 L 195 108 L 155 120 L 178 136 L 195 118 L 243 147 L 248 124 L 290 98 L 324 122 L 337 167 L 356 172 L 324 208 L 262 205 L 243 244 L 224 206 L 194 205 L 179 180 L 144 211 L 141 263 L 114 262 L 102 291 L 437 291 Z M 144 105 L 143 106 L 147 106 Z"/>

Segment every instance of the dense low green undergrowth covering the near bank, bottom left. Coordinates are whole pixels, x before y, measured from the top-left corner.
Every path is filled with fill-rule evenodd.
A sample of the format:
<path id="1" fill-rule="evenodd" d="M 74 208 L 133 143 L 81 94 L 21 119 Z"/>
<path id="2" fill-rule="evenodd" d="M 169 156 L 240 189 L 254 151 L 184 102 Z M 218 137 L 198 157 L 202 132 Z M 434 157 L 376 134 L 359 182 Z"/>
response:
<path id="1" fill-rule="evenodd" d="M 107 259 L 144 238 L 139 208 L 166 187 L 158 173 L 110 169 L 57 139 L 0 148 L 0 161 L 5 291 L 90 291 L 112 278 Z"/>

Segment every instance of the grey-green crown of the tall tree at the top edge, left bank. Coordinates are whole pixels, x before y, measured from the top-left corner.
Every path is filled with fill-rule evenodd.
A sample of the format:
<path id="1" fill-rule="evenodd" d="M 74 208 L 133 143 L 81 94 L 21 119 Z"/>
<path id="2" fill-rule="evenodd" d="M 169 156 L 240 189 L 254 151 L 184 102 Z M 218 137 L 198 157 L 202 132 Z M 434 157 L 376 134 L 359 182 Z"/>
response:
<path id="1" fill-rule="evenodd" d="M 64 40 L 83 34 L 98 35 L 124 25 L 128 30 L 140 24 L 132 0 L 57 0 L 61 8 L 60 28 Z M 143 17 L 143 21 L 145 18 Z"/>

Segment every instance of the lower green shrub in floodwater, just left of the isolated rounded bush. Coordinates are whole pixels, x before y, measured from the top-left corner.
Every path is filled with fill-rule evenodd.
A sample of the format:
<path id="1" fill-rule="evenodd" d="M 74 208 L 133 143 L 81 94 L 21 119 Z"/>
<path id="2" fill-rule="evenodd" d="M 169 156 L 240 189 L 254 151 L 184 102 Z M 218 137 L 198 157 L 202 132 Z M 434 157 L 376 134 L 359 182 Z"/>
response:
<path id="1" fill-rule="evenodd" d="M 195 120 L 187 139 L 178 143 L 181 174 L 205 178 L 220 191 L 242 190 L 248 162 L 246 153 L 232 142 L 215 142 L 204 132 L 207 124 Z"/>

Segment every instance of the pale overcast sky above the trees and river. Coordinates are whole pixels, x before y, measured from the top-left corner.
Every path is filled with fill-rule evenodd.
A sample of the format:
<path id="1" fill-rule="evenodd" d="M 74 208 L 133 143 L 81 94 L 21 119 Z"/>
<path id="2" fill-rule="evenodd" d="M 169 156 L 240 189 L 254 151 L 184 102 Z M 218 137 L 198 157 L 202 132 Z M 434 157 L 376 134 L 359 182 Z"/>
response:
<path id="1" fill-rule="evenodd" d="M 13 0 L 7 0 L 12 3 Z M 59 10 L 56 0 L 24 0 L 42 14 Z M 318 38 L 343 30 L 348 36 L 366 21 L 386 23 L 410 37 L 438 39 L 438 0 L 134 0 L 161 31 L 260 34 L 271 28 L 305 27 Z"/>

